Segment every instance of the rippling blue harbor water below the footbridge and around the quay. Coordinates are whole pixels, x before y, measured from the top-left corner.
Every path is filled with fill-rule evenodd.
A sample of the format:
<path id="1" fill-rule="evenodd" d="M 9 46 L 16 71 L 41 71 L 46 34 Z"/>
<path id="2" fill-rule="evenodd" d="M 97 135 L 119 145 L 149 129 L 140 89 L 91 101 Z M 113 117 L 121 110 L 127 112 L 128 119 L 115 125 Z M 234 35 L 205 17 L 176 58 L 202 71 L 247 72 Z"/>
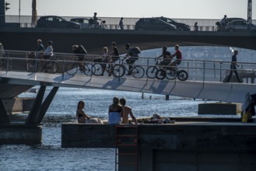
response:
<path id="1" fill-rule="evenodd" d="M 36 87 L 38 89 L 38 87 Z M 51 88 L 47 88 L 47 92 Z M 26 92 L 22 96 L 36 96 Z M 197 117 L 198 103 L 202 99 L 141 92 L 120 92 L 99 89 L 60 88 L 42 122 L 41 145 L 0 145 L 0 170 L 114 170 L 114 148 L 61 148 L 61 124 L 76 122 L 75 110 L 79 100 L 86 103 L 85 111 L 90 117 L 107 120 L 107 109 L 114 96 L 125 97 L 132 106 L 135 117 Z M 26 113 L 19 114 L 26 118 Z M 233 116 L 238 117 L 238 116 Z M 93 135 L 92 135 L 93 136 Z"/>

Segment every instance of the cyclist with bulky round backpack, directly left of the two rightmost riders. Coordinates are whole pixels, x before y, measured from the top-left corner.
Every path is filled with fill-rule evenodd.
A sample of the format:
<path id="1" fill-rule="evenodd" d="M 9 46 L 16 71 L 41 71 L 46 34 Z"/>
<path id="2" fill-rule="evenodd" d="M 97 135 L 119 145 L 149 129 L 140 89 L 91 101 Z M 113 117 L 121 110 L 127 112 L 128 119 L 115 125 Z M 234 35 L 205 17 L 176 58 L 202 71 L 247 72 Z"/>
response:
<path id="1" fill-rule="evenodd" d="M 125 49 L 127 50 L 127 54 L 125 55 L 125 58 L 128 58 L 126 60 L 126 63 L 129 66 L 128 69 L 128 74 L 127 75 L 131 75 L 132 74 L 132 64 L 135 63 L 135 61 L 137 61 L 139 59 L 139 53 L 141 52 L 139 50 L 139 47 L 130 47 L 130 44 L 125 44 Z M 122 59 L 122 61 L 124 61 L 124 59 Z"/>

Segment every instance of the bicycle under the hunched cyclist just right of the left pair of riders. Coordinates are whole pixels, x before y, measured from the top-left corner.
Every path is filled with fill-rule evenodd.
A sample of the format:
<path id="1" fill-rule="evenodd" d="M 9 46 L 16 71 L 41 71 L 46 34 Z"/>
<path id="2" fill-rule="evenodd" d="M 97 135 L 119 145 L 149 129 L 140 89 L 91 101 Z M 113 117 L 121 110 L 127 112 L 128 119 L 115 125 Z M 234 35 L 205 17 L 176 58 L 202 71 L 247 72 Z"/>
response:
<path id="1" fill-rule="evenodd" d="M 65 65 L 65 72 L 68 75 L 75 75 L 78 71 L 83 72 L 85 75 L 92 75 L 92 68 L 93 66 L 91 64 L 72 61 Z"/>

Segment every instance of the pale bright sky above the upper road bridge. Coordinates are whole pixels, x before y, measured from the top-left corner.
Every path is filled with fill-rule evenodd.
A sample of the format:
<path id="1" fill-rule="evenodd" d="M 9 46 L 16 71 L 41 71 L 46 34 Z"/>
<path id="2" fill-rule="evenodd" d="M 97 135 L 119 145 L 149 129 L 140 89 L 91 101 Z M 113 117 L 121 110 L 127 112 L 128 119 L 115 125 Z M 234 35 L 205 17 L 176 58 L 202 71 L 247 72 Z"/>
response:
<path id="1" fill-rule="evenodd" d="M 32 0 L 5 0 L 5 15 L 31 16 Z M 247 0 L 37 0 L 38 16 L 153 17 L 173 19 L 247 19 Z M 252 0 L 252 19 L 256 19 L 256 0 Z"/>

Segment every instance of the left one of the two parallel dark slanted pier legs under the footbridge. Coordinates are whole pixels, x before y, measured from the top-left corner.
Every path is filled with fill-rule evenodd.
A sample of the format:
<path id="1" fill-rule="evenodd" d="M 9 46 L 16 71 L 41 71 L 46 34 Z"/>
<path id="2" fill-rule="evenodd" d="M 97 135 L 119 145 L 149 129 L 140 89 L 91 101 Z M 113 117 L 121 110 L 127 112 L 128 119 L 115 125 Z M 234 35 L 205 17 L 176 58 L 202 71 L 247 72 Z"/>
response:
<path id="1" fill-rule="evenodd" d="M 30 110 L 30 113 L 26 118 L 25 124 L 37 124 L 39 112 L 40 112 L 42 101 L 44 98 L 45 89 L 46 89 L 46 86 L 40 86 L 39 92 L 37 93 L 37 97 L 33 103 L 32 110 Z"/>

